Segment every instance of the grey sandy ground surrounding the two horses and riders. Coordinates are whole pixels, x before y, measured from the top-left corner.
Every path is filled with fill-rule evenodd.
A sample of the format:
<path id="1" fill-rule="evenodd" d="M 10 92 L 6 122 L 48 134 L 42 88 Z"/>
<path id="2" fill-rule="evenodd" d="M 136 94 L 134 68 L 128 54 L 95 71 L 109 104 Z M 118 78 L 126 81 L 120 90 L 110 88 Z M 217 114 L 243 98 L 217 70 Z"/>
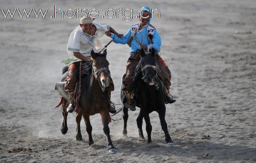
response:
<path id="1" fill-rule="evenodd" d="M 0 8 L 159 8 L 154 19 L 162 36 L 162 57 L 172 71 L 172 94 L 166 120 L 176 146 L 165 146 L 157 113 L 150 114 L 151 144 L 139 140 L 136 117 L 129 112 L 128 138 L 121 131 L 122 113 L 110 133 L 117 149 L 110 154 L 100 115 L 91 117 L 95 144 L 75 140 L 75 115 L 68 115 L 68 132 L 60 131 L 62 115 L 54 108 L 59 96 L 61 60 L 67 58 L 67 39 L 78 19 L 4 19 L 0 15 L 0 162 L 256 162 L 256 1 L 255 0 L 1 0 Z M 100 15 L 102 15 L 100 13 Z M 98 19 L 126 33 L 133 19 Z M 110 38 L 104 36 L 102 43 Z M 119 99 L 121 75 L 129 56 L 127 45 L 110 44 L 108 61 L 115 83 L 112 100 Z M 145 124 L 145 123 L 144 123 Z M 145 125 L 143 125 L 145 129 Z M 146 136 L 146 132 L 144 130 Z M 209 139 L 202 139 L 209 135 Z M 8 153 L 13 148 L 31 151 Z"/>

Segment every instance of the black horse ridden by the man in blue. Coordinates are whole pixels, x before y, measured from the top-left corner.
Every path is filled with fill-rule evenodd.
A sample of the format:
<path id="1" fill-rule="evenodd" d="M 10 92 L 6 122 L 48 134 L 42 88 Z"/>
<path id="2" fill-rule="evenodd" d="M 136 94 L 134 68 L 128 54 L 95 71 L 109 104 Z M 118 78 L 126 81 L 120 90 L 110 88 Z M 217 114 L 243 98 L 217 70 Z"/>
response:
<path id="1" fill-rule="evenodd" d="M 140 138 L 145 139 L 142 132 L 142 119 L 144 118 L 146 122 L 146 131 L 148 133 L 148 143 L 151 143 L 152 125 L 150 124 L 149 113 L 156 111 L 159 114 L 167 145 L 174 146 L 165 121 L 164 90 L 163 84 L 158 77 L 159 69 L 155 53 L 154 49 L 151 49 L 150 52 L 147 53 L 145 53 L 144 50 L 141 50 L 141 59 L 135 70 L 132 92 L 135 96 L 134 100 L 136 101 L 136 106 L 141 108 L 137 118 L 137 126 Z M 122 76 L 122 82 L 124 76 L 125 75 Z M 124 119 L 123 135 L 127 137 L 128 108 L 124 107 L 127 98 L 122 90 L 121 100 Z"/>

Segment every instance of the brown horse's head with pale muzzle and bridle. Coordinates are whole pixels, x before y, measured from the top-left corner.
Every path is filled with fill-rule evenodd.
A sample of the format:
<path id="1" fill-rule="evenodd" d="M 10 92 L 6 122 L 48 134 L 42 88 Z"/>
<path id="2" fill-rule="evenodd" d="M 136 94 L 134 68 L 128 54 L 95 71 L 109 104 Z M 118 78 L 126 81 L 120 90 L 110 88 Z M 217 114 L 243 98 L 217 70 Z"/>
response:
<path id="1" fill-rule="evenodd" d="M 105 88 L 109 86 L 110 81 L 110 71 L 108 69 L 108 60 L 106 58 L 107 50 L 105 49 L 103 53 L 94 53 L 91 51 L 91 57 L 93 60 L 93 74 L 97 80 L 99 80 L 101 85 L 101 90 L 104 92 Z"/>

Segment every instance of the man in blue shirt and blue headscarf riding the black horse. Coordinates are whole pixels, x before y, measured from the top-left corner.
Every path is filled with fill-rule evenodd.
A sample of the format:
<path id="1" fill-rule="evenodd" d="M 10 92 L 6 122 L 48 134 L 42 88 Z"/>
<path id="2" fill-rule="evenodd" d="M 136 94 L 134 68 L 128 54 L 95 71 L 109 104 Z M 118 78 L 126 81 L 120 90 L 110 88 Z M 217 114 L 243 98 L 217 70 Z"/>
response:
<path id="1" fill-rule="evenodd" d="M 132 93 L 130 92 L 130 87 L 133 82 L 133 76 L 135 75 L 135 68 L 140 61 L 140 50 L 149 50 L 154 48 L 156 51 L 160 51 L 161 47 L 161 37 L 156 31 L 155 27 L 149 24 L 151 20 L 150 8 L 148 6 L 143 6 L 140 10 L 140 23 L 132 25 L 131 28 L 127 31 L 124 37 L 119 38 L 115 34 L 106 32 L 106 35 L 113 38 L 113 42 L 116 44 L 128 44 L 131 47 L 130 57 L 126 64 L 126 76 L 124 79 L 124 87 L 126 97 L 128 102 L 125 104 L 125 107 L 130 108 L 130 110 L 135 110 L 135 101 L 133 100 Z M 135 39 L 133 39 L 135 38 Z M 162 58 L 159 55 L 156 55 L 162 64 L 159 68 L 162 71 L 164 77 L 164 85 L 166 88 L 165 103 L 174 103 L 176 100 L 173 99 L 172 95 L 169 94 L 169 87 L 171 85 L 171 73 L 167 65 L 164 63 Z"/>

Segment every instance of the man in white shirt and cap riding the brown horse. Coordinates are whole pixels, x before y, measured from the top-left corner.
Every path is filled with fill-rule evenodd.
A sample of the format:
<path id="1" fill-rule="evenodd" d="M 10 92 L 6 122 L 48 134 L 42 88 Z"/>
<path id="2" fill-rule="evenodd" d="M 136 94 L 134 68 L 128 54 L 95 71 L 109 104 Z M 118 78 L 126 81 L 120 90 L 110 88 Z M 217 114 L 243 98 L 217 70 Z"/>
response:
<path id="1" fill-rule="evenodd" d="M 74 89 L 79 75 L 80 62 L 88 62 L 91 60 L 91 50 L 98 51 L 101 49 L 101 42 L 98 38 L 101 38 L 106 31 L 115 33 L 117 36 L 122 37 L 121 34 L 117 33 L 109 25 L 101 25 L 95 22 L 90 17 L 82 17 L 80 20 L 80 26 L 76 27 L 71 32 L 68 39 L 67 51 L 74 55 L 74 58 L 70 59 L 72 62 L 69 63 L 68 77 L 65 84 L 65 90 L 69 93 L 70 104 L 67 107 L 67 112 L 72 113 L 74 111 Z M 112 88 L 111 88 L 112 85 Z M 114 90 L 114 83 L 110 81 L 110 91 Z M 109 100 L 110 100 L 109 91 Z M 108 111 L 110 113 L 116 113 L 115 108 L 109 105 Z"/>

